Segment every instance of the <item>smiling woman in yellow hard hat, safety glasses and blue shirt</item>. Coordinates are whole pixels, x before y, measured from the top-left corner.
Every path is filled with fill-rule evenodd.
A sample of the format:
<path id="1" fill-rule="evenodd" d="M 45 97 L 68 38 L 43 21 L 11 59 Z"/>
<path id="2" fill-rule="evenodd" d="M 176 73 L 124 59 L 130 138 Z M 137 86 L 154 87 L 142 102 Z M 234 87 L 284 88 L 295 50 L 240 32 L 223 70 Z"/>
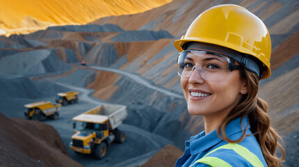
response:
<path id="1" fill-rule="evenodd" d="M 282 139 L 257 97 L 259 79 L 270 77 L 264 23 L 241 6 L 214 6 L 174 45 L 188 111 L 203 116 L 205 129 L 186 141 L 176 166 L 282 166 Z"/>

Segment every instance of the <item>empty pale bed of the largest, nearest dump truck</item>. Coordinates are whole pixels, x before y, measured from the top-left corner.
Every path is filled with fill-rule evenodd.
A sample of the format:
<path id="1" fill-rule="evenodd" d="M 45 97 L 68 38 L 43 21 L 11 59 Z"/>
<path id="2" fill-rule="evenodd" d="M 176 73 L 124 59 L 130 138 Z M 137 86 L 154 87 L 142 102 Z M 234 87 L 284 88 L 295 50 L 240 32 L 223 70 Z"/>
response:
<path id="1" fill-rule="evenodd" d="M 116 104 L 101 104 L 79 116 L 73 118 L 75 121 L 103 123 L 109 122 L 109 128 L 115 129 L 127 118 L 127 106 Z"/>

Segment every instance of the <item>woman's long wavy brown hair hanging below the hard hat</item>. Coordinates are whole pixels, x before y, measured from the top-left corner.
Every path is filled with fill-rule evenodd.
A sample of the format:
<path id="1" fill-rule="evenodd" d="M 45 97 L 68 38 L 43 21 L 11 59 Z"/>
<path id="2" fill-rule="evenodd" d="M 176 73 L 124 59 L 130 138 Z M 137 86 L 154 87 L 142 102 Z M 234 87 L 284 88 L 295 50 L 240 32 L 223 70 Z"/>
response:
<path id="1" fill-rule="evenodd" d="M 257 74 L 250 72 L 248 70 L 240 70 L 241 79 L 243 79 L 248 88 L 248 93 L 243 96 L 241 102 L 230 111 L 226 118 L 221 123 L 220 127 L 217 129 L 218 135 L 221 135 L 224 141 L 229 143 L 240 143 L 246 136 L 246 130 L 243 131 L 243 135 L 236 141 L 230 140 L 225 134 L 225 127 L 232 120 L 241 117 L 241 121 L 245 116 L 248 116 L 250 122 L 250 130 L 252 134 L 257 138 L 259 145 L 261 147 L 261 152 L 264 154 L 264 158 L 268 166 L 282 166 L 282 161 L 284 161 L 285 152 L 282 145 L 284 142 L 282 138 L 275 132 L 275 129 L 270 127 L 270 118 L 268 116 L 268 104 L 264 100 L 257 97 L 257 92 L 259 89 L 259 79 Z M 241 126 L 241 122 L 240 122 Z M 280 139 L 282 145 L 278 143 L 277 139 Z M 282 157 L 278 158 L 275 155 L 275 150 L 277 146 L 282 150 Z"/>

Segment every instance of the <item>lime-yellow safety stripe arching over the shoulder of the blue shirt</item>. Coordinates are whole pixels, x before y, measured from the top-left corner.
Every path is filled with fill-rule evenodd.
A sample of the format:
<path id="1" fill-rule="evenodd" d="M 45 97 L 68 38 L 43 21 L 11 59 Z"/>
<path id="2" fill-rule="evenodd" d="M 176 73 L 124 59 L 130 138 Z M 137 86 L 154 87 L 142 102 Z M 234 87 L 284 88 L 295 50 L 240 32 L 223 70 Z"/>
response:
<path id="1" fill-rule="evenodd" d="M 206 157 L 207 155 L 211 154 L 212 152 L 216 152 L 216 150 L 219 150 L 219 149 L 231 149 L 231 150 L 234 150 L 234 152 L 238 153 L 241 157 L 243 157 L 244 159 L 246 159 L 247 161 L 249 161 L 249 163 L 252 164 L 252 166 L 254 166 L 254 167 L 264 166 L 263 163 L 261 163 L 261 160 L 259 160 L 259 158 L 255 154 L 253 154 L 252 152 L 250 152 L 250 150 L 248 150 L 247 148 L 243 147 L 242 145 L 239 145 L 239 144 L 236 144 L 236 143 L 228 143 L 226 145 L 220 146 L 219 148 L 211 150 L 211 152 L 208 152 L 201 159 L 207 158 Z M 201 159 L 195 161 L 195 163 L 196 162 L 200 162 Z M 227 162 L 225 162 L 225 163 L 227 164 Z M 225 166 L 225 164 L 223 164 L 223 166 Z"/>

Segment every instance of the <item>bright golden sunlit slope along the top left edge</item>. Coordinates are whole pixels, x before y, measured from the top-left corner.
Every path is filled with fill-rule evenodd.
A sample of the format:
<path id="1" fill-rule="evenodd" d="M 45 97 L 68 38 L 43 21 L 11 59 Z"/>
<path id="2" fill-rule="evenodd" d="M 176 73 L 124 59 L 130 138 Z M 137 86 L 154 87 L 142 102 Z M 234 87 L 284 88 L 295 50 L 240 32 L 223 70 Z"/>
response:
<path id="1" fill-rule="evenodd" d="M 0 35 L 25 34 L 48 26 L 86 24 L 109 15 L 142 13 L 171 0 L 5 1 L 0 6 Z"/>

